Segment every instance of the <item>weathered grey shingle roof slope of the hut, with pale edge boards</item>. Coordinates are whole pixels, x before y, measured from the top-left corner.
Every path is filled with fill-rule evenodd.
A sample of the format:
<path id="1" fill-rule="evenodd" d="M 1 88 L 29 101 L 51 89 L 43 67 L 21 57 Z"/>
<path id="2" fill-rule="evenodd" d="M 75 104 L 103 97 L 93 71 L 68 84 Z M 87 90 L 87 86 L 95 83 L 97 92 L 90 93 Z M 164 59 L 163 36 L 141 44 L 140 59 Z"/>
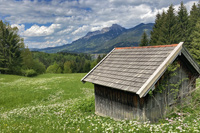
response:
<path id="1" fill-rule="evenodd" d="M 182 43 L 113 49 L 83 79 L 143 97 L 180 53 Z"/>

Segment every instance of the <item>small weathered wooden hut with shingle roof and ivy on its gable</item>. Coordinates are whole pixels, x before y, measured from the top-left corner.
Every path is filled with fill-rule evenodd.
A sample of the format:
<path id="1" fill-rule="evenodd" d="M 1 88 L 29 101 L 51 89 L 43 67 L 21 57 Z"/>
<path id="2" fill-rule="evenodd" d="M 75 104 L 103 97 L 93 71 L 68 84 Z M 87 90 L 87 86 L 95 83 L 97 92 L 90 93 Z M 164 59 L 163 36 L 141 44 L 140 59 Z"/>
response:
<path id="1" fill-rule="evenodd" d="M 190 94 L 200 69 L 183 43 L 114 48 L 85 77 L 95 88 L 95 113 L 157 121 Z"/>

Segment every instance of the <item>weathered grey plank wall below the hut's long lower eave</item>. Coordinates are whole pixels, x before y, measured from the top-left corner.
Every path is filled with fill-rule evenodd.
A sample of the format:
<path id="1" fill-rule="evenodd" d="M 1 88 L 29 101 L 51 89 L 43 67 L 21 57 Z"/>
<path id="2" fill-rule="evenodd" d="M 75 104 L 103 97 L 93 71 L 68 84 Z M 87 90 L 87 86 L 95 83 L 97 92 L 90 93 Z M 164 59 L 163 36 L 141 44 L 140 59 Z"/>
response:
<path id="1" fill-rule="evenodd" d="M 96 114 L 115 119 L 143 120 L 144 111 L 144 98 L 137 94 L 95 85 Z"/>

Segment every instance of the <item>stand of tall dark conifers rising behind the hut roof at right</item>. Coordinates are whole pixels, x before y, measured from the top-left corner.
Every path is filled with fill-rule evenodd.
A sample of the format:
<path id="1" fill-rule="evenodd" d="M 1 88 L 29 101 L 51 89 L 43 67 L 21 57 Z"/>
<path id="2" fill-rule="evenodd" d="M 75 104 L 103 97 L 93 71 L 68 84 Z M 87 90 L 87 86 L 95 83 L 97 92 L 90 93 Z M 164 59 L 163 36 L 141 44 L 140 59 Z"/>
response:
<path id="1" fill-rule="evenodd" d="M 156 15 L 150 39 L 144 32 L 140 46 L 177 44 L 184 42 L 194 59 L 200 64 L 200 1 L 193 4 L 190 13 L 181 2 L 178 11 L 173 5 Z"/>

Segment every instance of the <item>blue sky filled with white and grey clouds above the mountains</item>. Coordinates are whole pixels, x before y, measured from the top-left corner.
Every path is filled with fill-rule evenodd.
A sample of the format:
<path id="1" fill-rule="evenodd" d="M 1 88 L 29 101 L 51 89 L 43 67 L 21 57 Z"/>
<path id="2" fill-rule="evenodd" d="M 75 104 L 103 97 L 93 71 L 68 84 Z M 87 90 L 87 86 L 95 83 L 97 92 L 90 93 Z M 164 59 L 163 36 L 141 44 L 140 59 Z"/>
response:
<path id="1" fill-rule="evenodd" d="M 198 0 L 0 0 L 0 19 L 17 26 L 29 48 L 71 43 L 112 24 L 125 28 L 152 23 L 158 12 Z"/>

